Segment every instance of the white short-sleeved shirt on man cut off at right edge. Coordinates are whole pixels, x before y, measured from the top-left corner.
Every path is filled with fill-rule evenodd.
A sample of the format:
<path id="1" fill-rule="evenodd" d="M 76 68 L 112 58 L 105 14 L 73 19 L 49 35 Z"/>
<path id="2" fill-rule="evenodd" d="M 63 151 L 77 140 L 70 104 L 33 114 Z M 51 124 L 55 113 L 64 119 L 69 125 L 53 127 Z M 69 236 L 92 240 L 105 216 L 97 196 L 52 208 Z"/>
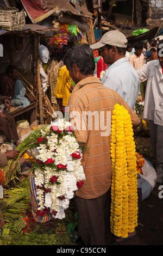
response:
<path id="1" fill-rule="evenodd" d="M 151 60 L 137 70 L 140 80 L 148 78 L 143 118 L 163 125 L 163 75 L 158 59 Z"/>

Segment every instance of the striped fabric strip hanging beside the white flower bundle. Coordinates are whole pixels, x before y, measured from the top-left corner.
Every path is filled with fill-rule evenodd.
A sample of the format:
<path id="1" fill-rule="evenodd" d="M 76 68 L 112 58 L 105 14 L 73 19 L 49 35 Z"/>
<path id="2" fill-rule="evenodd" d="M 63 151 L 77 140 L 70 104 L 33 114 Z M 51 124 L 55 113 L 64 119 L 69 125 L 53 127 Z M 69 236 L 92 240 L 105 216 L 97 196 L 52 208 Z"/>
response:
<path id="1" fill-rule="evenodd" d="M 35 178 L 35 175 L 32 172 L 32 170 L 30 170 L 29 171 L 29 182 L 30 182 L 30 202 L 32 204 L 32 214 L 33 214 L 35 221 L 44 223 L 44 222 L 51 220 L 52 215 L 49 214 L 48 212 L 46 212 L 46 214 L 43 216 L 37 215 L 37 209 L 38 209 L 39 205 L 38 205 L 38 200 L 37 200 L 37 195 L 36 195 L 36 185 L 34 182 L 34 178 Z"/>

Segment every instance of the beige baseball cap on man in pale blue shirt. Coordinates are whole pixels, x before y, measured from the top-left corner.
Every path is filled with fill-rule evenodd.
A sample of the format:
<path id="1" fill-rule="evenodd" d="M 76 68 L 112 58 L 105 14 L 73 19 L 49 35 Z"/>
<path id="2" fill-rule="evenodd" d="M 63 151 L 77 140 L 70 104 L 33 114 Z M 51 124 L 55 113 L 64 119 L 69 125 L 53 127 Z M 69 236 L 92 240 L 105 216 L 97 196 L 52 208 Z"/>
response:
<path id="1" fill-rule="evenodd" d="M 114 45 L 117 47 L 126 48 L 127 47 L 127 38 L 120 31 L 109 31 L 106 32 L 99 42 L 95 42 L 95 44 L 90 45 L 91 49 L 99 49 L 104 45 Z"/>

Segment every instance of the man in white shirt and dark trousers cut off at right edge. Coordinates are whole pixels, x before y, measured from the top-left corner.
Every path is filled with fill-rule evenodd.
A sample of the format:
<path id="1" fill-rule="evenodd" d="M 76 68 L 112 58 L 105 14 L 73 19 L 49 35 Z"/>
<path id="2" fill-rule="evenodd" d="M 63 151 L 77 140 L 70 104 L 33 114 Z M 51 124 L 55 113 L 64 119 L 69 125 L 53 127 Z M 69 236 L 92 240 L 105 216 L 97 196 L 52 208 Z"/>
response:
<path id="1" fill-rule="evenodd" d="M 139 70 L 140 80 L 148 79 L 143 118 L 149 119 L 152 151 L 156 159 L 157 182 L 163 182 L 163 42 L 158 46 L 158 59 L 151 60 Z"/>

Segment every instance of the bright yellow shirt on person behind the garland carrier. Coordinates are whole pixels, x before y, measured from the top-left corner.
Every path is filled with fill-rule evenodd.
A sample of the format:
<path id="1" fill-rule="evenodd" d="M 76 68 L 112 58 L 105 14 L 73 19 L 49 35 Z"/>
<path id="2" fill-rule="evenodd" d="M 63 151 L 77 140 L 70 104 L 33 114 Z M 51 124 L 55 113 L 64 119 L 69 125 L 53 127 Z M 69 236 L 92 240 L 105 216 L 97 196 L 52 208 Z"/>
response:
<path id="1" fill-rule="evenodd" d="M 62 66 L 58 71 L 57 83 L 55 84 L 54 94 L 58 99 L 62 99 L 62 105 L 67 107 L 68 99 L 71 95 L 68 88 L 71 86 L 71 77 L 66 65 Z"/>

